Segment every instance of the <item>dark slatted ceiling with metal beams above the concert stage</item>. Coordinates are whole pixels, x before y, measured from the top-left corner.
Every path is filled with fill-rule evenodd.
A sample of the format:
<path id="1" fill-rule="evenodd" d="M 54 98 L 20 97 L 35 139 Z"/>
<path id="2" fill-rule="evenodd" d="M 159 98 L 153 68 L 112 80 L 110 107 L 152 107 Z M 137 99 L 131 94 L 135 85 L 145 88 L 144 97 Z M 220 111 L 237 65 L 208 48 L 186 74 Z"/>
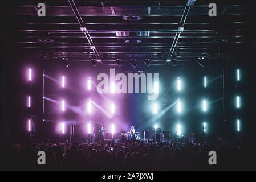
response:
<path id="1" fill-rule="evenodd" d="M 194 6 L 186 6 L 188 1 L 44 2 L 45 17 L 38 17 L 36 1 L 1 6 L 2 38 L 38 59 L 169 64 L 230 59 L 255 48 L 250 1 L 217 2 L 217 17 L 208 15 L 210 1 L 197 0 Z"/>

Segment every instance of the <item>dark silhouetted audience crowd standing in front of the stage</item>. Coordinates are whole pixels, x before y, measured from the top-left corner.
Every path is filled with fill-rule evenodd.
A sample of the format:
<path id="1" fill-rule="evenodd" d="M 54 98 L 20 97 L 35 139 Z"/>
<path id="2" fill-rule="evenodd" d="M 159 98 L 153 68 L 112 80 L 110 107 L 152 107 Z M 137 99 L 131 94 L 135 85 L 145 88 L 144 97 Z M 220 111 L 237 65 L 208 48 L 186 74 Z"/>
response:
<path id="1" fill-rule="evenodd" d="M 38 151 L 46 165 L 38 165 Z M 209 165 L 216 151 L 217 165 Z M 256 169 L 255 143 L 9 143 L 1 146 L 1 169 L 32 170 L 217 170 Z"/>

